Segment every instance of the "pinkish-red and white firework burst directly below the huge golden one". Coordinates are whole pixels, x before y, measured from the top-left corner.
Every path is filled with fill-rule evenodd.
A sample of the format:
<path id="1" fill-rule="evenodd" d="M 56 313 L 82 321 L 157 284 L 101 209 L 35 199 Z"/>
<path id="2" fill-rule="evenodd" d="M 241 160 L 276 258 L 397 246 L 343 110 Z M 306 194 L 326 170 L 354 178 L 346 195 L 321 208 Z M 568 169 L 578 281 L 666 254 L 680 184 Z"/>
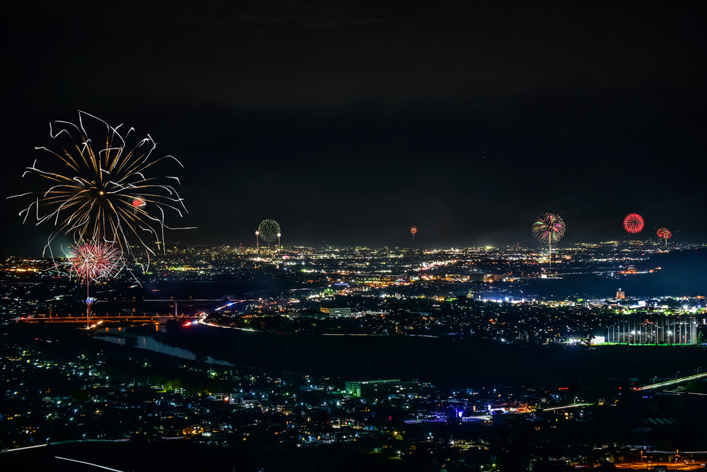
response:
<path id="1" fill-rule="evenodd" d="M 71 272 L 86 283 L 116 276 L 123 264 L 122 252 L 107 242 L 81 242 L 69 254 Z"/>

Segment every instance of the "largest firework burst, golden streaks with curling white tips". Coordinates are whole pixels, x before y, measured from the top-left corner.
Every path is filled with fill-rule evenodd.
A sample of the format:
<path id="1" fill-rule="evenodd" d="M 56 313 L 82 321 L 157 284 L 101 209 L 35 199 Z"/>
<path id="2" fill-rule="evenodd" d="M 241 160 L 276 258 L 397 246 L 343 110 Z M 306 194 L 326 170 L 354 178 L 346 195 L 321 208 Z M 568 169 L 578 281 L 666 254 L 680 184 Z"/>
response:
<path id="1" fill-rule="evenodd" d="M 183 199 L 175 187 L 155 175 L 167 162 L 182 164 L 171 155 L 154 158 L 156 143 L 147 138 L 130 147 L 127 138 L 134 129 L 122 136 L 120 126 L 110 126 L 86 112 L 78 112 L 78 125 L 57 121 L 49 124 L 49 136 L 57 151 L 40 147 L 53 158 L 40 168 L 37 160 L 27 167 L 25 175 L 39 175 L 49 186 L 33 195 L 33 201 L 20 212 L 23 222 L 30 215 L 37 225 L 52 223 L 57 231 L 49 236 L 45 250 L 60 233 L 71 235 L 74 241 L 110 242 L 125 254 L 132 246 L 145 249 L 148 259 L 155 254 L 150 246 L 156 242 L 164 247 L 165 209 L 181 217 L 187 213 Z M 90 131 L 87 131 L 87 129 Z M 93 140 L 89 136 L 100 136 Z M 159 164 L 159 165 L 158 165 Z M 151 174 L 152 172 L 152 174 Z M 139 196 L 136 196 L 139 194 Z M 13 198 L 13 197 L 10 197 Z M 152 208 L 151 213 L 148 207 Z"/>

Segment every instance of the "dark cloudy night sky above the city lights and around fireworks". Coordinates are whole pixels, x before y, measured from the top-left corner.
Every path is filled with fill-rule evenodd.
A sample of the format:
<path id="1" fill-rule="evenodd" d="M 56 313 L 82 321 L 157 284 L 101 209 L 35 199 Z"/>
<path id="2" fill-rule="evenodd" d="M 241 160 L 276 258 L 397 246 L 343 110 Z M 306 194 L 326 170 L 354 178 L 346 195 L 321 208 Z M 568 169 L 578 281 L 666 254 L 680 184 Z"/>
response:
<path id="1" fill-rule="evenodd" d="M 76 110 L 185 165 L 168 238 L 253 244 L 707 240 L 703 2 L 21 1 L 3 6 L 2 253 L 49 122 Z M 25 203 L 25 204 L 23 204 Z"/>

